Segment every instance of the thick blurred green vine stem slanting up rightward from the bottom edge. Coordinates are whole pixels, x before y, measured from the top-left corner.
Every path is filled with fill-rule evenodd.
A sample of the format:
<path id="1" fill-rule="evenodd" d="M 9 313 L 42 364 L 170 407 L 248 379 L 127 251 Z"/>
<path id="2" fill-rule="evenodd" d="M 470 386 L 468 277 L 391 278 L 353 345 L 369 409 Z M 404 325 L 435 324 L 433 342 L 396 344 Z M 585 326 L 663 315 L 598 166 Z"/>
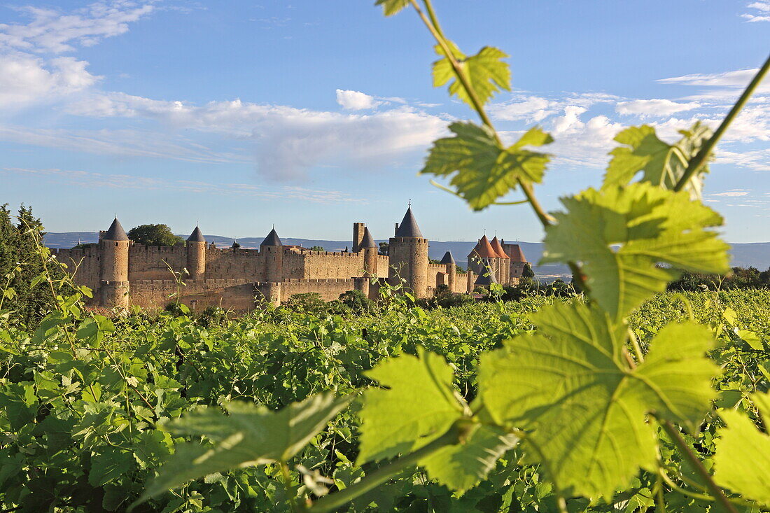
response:
<path id="1" fill-rule="evenodd" d="M 434 452 L 440 451 L 449 445 L 459 443 L 460 436 L 460 429 L 453 425 L 446 433 L 442 434 L 436 440 L 430 442 L 430 444 L 427 444 L 422 448 L 417 449 L 417 451 L 406 454 L 386 465 L 383 465 L 376 471 L 373 471 L 371 474 L 367 474 L 356 484 L 350 485 L 344 490 L 337 491 L 336 493 L 326 495 L 326 497 L 318 499 L 316 503 L 307 511 L 310 511 L 311 513 L 326 513 L 327 511 L 335 511 L 336 508 L 340 508 L 343 505 L 346 505 L 354 498 L 367 493 L 367 491 L 370 491 L 373 488 L 377 488 L 377 486 L 381 485 L 383 482 L 387 481 L 393 477 L 393 475 L 402 471 L 404 468 L 409 468 L 414 464 L 417 464 L 417 461 L 420 461 L 421 459 L 430 456 L 430 454 L 434 454 Z"/>

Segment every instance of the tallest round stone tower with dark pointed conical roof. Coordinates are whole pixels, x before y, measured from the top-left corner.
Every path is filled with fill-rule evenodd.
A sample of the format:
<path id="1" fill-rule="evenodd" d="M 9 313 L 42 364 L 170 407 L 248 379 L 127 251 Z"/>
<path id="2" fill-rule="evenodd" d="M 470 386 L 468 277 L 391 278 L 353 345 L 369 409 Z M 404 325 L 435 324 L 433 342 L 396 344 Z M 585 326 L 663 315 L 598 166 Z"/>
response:
<path id="1" fill-rule="evenodd" d="M 390 257 L 390 269 L 388 270 L 390 284 L 400 283 L 400 278 L 403 278 L 407 280 L 407 287 L 415 297 L 426 297 L 428 240 L 420 232 L 411 206 L 398 225 L 395 236 L 390 237 L 388 255 Z"/>

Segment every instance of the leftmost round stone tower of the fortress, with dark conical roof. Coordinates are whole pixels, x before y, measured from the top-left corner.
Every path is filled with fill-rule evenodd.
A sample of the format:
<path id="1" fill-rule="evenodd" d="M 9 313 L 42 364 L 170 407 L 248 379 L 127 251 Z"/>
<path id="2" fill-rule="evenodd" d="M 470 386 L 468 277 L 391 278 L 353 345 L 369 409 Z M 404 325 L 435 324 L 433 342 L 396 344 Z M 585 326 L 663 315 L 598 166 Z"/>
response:
<path id="1" fill-rule="evenodd" d="M 99 233 L 99 294 L 102 307 L 129 306 L 129 237 L 117 217 Z"/>

